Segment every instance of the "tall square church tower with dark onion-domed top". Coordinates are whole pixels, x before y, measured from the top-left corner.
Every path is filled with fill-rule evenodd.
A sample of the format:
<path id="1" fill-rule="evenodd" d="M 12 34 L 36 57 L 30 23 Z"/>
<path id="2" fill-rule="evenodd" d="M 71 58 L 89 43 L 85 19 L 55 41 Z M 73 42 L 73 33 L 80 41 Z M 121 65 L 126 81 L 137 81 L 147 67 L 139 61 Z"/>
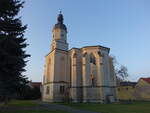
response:
<path id="1" fill-rule="evenodd" d="M 46 56 L 43 100 L 63 102 L 66 99 L 69 77 L 67 27 L 63 24 L 63 15 L 57 17 L 52 30 L 50 53 Z"/>

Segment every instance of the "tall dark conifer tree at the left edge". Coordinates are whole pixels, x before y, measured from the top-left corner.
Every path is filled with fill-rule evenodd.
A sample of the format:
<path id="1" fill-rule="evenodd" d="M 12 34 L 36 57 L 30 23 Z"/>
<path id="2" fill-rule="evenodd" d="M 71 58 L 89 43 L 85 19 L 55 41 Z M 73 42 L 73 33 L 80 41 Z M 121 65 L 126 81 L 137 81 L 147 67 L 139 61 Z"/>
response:
<path id="1" fill-rule="evenodd" d="M 27 28 L 18 17 L 24 2 L 20 0 L 0 0 L 0 98 L 7 103 L 27 83 L 25 71 L 30 55 L 24 32 Z"/>

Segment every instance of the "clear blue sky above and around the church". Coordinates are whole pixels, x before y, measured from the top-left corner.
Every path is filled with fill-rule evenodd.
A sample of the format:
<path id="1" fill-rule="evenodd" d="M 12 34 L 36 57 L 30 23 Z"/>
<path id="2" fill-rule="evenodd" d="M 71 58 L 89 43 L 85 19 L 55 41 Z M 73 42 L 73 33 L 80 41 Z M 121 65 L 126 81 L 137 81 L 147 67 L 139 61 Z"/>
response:
<path id="1" fill-rule="evenodd" d="M 150 76 L 150 0 L 26 0 L 20 16 L 28 24 L 29 79 L 42 80 L 60 9 L 68 28 L 69 48 L 109 47 L 119 64 L 128 68 L 129 80 Z"/>

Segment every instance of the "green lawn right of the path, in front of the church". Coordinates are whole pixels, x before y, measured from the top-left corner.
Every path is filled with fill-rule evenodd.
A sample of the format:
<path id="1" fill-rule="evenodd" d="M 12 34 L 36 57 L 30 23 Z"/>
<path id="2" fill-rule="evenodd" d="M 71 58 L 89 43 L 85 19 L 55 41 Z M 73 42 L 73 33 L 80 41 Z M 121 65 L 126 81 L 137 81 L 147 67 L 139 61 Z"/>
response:
<path id="1" fill-rule="evenodd" d="M 150 102 L 133 102 L 130 104 L 72 103 L 64 105 L 101 113 L 150 113 Z"/>

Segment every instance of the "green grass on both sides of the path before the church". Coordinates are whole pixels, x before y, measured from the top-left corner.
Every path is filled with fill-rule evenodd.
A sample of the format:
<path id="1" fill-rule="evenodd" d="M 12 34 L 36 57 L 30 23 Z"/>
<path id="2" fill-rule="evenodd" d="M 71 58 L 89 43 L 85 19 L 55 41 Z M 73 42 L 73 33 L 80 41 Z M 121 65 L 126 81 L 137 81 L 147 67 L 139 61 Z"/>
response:
<path id="1" fill-rule="evenodd" d="M 132 102 L 130 104 L 70 103 L 63 105 L 101 113 L 150 113 L 150 102 Z M 8 104 L 7 109 L 0 109 L 0 113 L 66 113 L 66 112 L 60 110 L 49 110 L 47 108 L 41 107 L 38 103 L 36 103 L 36 101 L 13 100 Z"/>

